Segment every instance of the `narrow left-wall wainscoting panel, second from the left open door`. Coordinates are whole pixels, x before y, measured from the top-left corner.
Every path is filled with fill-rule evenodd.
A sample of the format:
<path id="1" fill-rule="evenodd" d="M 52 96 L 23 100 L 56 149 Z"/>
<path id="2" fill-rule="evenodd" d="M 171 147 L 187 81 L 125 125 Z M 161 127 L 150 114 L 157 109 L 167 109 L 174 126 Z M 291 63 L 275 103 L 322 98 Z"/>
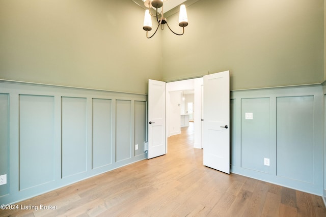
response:
<path id="1" fill-rule="evenodd" d="M 116 162 L 131 158 L 131 101 L 116 101 Z"/>

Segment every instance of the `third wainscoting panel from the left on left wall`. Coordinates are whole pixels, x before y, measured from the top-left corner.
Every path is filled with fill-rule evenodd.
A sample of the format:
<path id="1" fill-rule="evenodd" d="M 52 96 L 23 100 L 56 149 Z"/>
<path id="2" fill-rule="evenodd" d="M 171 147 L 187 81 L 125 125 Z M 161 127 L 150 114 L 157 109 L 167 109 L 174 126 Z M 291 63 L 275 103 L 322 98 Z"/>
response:
<path id="1" fill-rule="evenodd" d="M 62 97 L 62 178 L 87 170 L 86 98 Z"/>

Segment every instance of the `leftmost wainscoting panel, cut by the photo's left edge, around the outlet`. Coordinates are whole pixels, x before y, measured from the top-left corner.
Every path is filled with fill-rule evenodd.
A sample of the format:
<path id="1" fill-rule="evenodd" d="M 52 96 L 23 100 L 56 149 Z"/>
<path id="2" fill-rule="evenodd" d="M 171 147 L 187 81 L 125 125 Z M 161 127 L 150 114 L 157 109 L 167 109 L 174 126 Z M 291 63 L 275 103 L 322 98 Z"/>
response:
<path id="1" fill-rule="evenodd" d="M 9 178 L 9 94 L 0 94 L 0 175 Z M 0 197 L 9 194 L 7 184 L 0 185 Z"/>

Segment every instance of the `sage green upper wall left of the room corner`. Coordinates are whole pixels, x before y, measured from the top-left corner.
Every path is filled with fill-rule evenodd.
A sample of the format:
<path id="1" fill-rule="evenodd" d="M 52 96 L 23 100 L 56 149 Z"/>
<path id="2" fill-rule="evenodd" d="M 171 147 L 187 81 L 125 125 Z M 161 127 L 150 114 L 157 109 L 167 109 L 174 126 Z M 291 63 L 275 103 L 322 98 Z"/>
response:
<path id="1" fill-rule="evenodd" d="M 0 0 L 0 79 L 145 94 L 161 50 L 143 18 L 131 0 Z"/>

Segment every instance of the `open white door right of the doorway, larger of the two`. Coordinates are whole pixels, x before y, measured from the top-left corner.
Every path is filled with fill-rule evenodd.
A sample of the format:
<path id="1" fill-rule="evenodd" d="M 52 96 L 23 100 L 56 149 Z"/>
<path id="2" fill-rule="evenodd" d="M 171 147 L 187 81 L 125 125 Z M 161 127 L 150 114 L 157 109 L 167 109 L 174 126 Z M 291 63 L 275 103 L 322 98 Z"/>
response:
<path id="1" fill-rule="evenodd" d="M 204 165 L 230 174 L 230 71 L 204 76 Z"/>

